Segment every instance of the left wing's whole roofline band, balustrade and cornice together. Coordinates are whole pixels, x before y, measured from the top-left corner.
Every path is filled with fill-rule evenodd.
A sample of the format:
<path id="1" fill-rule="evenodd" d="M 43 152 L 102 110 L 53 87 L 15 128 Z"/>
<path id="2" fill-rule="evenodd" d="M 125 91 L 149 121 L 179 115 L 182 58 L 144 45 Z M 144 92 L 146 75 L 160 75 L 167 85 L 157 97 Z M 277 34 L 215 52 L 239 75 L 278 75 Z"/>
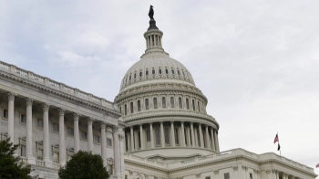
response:
<path id="1" fill-rule="evenodd" d="M 79 89 L 74 89 L 71 87 L 68 87 L 67 85 L 63 83 L 58 83 L 56 81 L 53 81 L 51 79 L 47 79 L 45 77 L 41 77 L 39 75 L 34 74 L 31 71 L 26 71 L 21 68 L 15 68 L 15 66 L 12 66 L 10 64 L 6 64 L 5 62 L 0 61 L 3 65 L 2 68 L 0 68 L 0 77 L 12 80 L 13 82 L 18 82 L 19 85 L 23 84 L 28 87 L 31 87 L 32 89 L 35 89 L 35 91 L 45 92 L 45 93 L 51 93 L 58 97 L 62 97 L 66 100 L 73 100 L 77 102 L 78 104 L 82 104 L 94 109 L 97 109 L 99 111 L 107 111 L 112 116 L 118 118 L 121 116 L 121 114 L 113 109 L 108 109 L 108 107 L 103 106 L 110 104 L 114 106 L 114 103 L 101 99 L 98 97 L 95 97 L 91 94 L 88 94 L 84 91 L 81 91 Z M 14 71 L 10 71 L 9 68 L 4 67 L 11 67 L 14 68 Z M 87 97 L 87 99 L 84 98 Z M 97 102 L 101 103 L 98 104 Z"/>

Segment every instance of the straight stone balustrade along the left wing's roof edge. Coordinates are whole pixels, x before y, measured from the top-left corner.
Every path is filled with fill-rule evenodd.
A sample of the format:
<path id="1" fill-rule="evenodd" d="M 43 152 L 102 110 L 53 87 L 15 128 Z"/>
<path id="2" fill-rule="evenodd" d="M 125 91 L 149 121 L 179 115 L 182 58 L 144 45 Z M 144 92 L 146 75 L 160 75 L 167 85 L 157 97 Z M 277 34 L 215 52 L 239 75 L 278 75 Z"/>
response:
<path id="1" fill-rule="evenodd" d="M 63 83 L 57 82 L 55 80 L 48 79 L 46 77 L 42 77 L 40 75 L 33 73 L 32 71 L 27 71 L 26 69 L 23 69 L 23 68 L 17 68 L 14 65 L 7 64 L 3 61 L 0 61 L 0 72 L 1 71 L 5 71 L 6 73 L 10 73 L 12 75 L 15 75 L 15 76 L 23 78 L 23 79 L 29 79 L 30 81 L 44 85 L 48 88 L 56 89 L 56 90 L 59 90 L 61 92 L 65 92 L 69 95 L 75 96 L 75 97 L 80 98 L 82 100 L 88 100 L 88 101 L 96 103 L 98 105 L 107 107 L 108 109 L 116 110 L 113 102 L 111 102 L 111 101 L 105 100 L 103 98 L 99 98 L 99 97 L 94 96 L 92 94 L 89 94 L 85 91 L 69 87 L 69 86 L 67 86 Z"/>

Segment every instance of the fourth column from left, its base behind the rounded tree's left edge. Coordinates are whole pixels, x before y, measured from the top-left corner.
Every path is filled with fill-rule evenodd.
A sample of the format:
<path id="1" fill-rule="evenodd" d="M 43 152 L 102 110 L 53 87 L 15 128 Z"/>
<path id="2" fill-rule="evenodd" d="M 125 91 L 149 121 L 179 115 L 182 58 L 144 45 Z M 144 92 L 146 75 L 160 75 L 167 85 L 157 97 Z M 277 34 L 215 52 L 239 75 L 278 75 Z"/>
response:
<path id="1" fill-rule="evenodd" d="M 59 115 L 59 122 L 58 122 L 58 137 L 59 137 L 59 161 L 60 161 L 60 164 L 62 166 L 64 166 L 67 162 L 67 155 L 66 155 L 66 151 L 67 151 L 67 148 L 66 148 L 66 142 L 65 142 L 65 134 L 64 134 L 64 114 L 65 114 L 65 111 L 63 109 L 59 109 L 58 110 L 58 115 Z"/>

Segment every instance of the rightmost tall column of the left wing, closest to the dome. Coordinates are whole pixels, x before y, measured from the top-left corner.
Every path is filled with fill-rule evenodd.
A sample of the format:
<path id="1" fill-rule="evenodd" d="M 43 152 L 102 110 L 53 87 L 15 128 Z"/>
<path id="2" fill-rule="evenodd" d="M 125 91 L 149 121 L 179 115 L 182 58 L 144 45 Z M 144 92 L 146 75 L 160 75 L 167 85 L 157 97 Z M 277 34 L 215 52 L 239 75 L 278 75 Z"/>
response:
<path id="1" fill-rule="evenodd" d="M 113 127 L 114 139 L 114 175 L 120 174 L 120 160 L 119 160 L 119 139 L 118 139 L 118 126 Z"/>

